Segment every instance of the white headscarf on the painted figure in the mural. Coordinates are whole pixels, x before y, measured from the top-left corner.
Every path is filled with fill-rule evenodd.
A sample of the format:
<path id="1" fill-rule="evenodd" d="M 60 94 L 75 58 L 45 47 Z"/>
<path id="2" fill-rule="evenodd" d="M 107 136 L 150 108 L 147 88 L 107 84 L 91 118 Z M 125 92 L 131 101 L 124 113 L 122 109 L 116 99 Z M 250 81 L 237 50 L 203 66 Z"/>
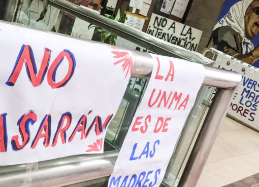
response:
<path id="1" fill-rule="evenodd" d="M 248 44 L 247 52 L 253 50 L 253 44 L 245 35 L 245 12 L 253 0 L 242 0 L 230 8 L 230 11 L 222 17 L 214 27 L 214 30 L 221 26 L 231 26 L 236 32 L 238 32 L 243 40 L 242 54 L 246 52 L 246 44 Z"/>

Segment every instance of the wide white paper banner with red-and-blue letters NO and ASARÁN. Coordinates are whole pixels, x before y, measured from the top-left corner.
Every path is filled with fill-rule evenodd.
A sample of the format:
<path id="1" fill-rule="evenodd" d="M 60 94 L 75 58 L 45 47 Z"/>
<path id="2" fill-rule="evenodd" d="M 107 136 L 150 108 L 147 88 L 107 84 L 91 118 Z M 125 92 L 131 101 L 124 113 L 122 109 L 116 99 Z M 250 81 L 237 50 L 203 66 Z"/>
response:
<path id="1" fill-rule="evenodd" d="M 0 165 L 103 153 L 132 54 L 6 23 L 0 40 Z"/>

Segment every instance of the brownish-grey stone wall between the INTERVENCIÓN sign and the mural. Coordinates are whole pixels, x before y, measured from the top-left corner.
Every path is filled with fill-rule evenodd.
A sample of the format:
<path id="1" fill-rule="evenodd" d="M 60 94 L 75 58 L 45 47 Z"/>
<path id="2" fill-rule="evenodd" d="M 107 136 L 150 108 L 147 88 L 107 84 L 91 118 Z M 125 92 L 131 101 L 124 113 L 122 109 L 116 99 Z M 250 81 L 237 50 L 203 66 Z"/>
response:
<path id="1" fill-rule="evenodd" d="M 184 24 L 203 31 L 197 52 L 207 47 L 224 0 L 193 0 Z"/>

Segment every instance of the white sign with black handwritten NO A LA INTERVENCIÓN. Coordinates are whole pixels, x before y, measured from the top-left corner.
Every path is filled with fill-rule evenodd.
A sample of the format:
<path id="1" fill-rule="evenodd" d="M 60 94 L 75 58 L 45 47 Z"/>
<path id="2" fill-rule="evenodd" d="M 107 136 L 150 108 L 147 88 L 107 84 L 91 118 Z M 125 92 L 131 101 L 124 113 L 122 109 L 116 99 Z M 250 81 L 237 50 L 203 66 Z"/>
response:
<path id="1" fill-rule="evenodd" d="M 152 14 L 147 33 L 190 51 L 197 51 L 202 36 L 201 30 L 157 14 Z"/>

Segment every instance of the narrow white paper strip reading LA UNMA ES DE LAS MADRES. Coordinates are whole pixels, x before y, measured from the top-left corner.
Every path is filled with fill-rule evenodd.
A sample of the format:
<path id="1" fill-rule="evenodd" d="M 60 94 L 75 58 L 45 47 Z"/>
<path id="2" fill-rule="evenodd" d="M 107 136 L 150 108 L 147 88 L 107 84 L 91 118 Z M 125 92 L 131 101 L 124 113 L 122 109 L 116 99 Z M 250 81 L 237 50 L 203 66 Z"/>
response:
<path id="1" fill-rule="evenodd" d="M 152 57 L 152 75 L 122 144 L 109 187 L 159 186 L 205 77 L 201 64 Z"/>

